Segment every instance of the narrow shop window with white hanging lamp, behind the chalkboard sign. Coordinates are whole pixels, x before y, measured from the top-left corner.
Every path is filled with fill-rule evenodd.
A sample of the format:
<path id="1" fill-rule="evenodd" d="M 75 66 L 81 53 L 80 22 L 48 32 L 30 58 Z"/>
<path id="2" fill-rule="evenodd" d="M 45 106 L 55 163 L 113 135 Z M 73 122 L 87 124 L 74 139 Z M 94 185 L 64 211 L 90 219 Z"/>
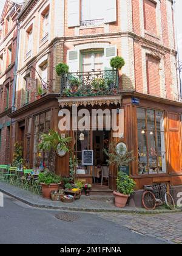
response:
<path id="1" fill-rule="evenodd" d="M 76 174 L 82 174 L 82 175 L 90 174 L 90 166 L 82 165 L 82 152 L 83 152 L 83 150 L 90 149 L 89 141 L 90 141 L 89 131 L 75 132 L 74 155 L 78 162 Z"/>

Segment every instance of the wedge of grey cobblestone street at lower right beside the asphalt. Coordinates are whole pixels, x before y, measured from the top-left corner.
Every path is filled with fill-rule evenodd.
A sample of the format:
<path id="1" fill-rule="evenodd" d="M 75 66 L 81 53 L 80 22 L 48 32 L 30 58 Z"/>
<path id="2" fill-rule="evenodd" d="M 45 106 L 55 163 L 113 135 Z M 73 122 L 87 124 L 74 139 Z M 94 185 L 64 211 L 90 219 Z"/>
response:
<path id="1" fill-rule="evenodd" d="M 168 243 L 182 244 L 181 213 L 160 215 L 99 213 L 98 215 L 144 236 L 157 238 Z"/>

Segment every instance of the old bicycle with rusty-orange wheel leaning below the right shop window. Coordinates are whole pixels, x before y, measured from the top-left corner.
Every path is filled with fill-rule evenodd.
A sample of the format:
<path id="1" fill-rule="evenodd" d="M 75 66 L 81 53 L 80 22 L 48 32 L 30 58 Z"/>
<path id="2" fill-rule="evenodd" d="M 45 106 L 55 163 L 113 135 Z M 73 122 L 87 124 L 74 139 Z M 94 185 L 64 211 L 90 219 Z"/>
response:
<path id="1" fill-rule="evenodd" d="M 157 206 L 166 203 L 170 210 L 175 209 L 175 202 L 172 195 L 169 193 L 169 184 L 160 183 L 144 186 L 142 203 L 147 210 L 155 210 Z"/>

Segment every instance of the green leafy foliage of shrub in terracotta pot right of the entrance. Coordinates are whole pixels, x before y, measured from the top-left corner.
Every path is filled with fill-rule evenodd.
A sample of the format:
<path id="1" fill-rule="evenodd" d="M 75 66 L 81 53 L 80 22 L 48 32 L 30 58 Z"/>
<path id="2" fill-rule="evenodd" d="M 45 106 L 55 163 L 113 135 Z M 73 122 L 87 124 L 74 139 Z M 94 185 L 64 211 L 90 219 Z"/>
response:
<path id="1" fill-rule="evenodd" d="M 124 172 L 118 171 L 116 186 L 117 191 L 121 194 L 133 194 L 136 183 Z"/>

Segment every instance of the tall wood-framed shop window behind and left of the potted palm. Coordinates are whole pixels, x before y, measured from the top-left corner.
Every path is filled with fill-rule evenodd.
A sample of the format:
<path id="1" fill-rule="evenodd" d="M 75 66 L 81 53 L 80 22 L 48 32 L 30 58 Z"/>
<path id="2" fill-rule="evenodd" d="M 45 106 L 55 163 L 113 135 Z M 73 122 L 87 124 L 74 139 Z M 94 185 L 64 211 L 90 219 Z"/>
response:
<path id="1" fill-rule="evenodd" d="M 42 166 L 43 163 L 49 168 L 50 152 L 39 151 L 38 144 L 42 133 L 48 133 L 50 130 L 51 113 L 50 111 L 36 115 L 34 119 L 33 135 L 33 166 Z"/>

